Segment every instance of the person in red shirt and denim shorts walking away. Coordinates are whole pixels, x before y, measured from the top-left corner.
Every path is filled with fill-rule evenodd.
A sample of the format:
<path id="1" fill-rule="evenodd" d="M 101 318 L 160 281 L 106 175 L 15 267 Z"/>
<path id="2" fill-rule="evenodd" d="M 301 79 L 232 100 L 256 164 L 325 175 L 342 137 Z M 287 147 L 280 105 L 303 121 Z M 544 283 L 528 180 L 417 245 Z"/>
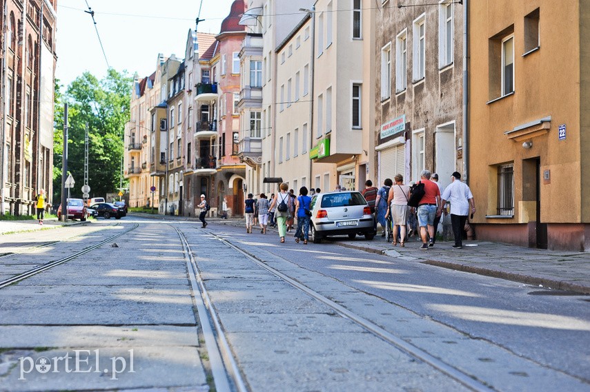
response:
<path id="1" fill-rule="evenodd" d="M 418 204 L 418 225 L 420 225 L 420 237 L 422 238 L 422 247 L 428 249 L 434 246 L 434 219 L 440 215 L 440 188 L 436 183 L 430 180 L 431 172 L 422 170 L 420 173 L 420 182 L 424 184 L 424 196 Z M 428 231 L 426 231 L 428 229 Z M 428 240 L 428 236 L 430 241 Z"/>

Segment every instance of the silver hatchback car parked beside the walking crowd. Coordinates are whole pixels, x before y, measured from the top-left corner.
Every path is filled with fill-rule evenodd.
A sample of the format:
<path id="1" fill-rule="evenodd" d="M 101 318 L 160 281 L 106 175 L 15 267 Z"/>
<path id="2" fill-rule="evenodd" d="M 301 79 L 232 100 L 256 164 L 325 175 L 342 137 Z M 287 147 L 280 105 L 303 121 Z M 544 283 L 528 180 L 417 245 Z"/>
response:
<path id="1" fill-rule="evenodd" d="M 319 244 L 325 236 L 357 234 L 367 240 L 375 237 L 371 207 L 360 192 L 328 192 L 316 194 L 311 199 L 310 236 L 313 243 Z"/>

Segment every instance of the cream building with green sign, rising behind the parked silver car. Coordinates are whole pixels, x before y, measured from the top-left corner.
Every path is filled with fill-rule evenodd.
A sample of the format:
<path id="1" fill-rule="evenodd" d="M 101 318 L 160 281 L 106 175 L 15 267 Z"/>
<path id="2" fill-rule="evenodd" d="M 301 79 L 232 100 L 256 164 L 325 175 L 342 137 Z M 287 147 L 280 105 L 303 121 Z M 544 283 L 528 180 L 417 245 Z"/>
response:
<path id="1" fill-rule="evenodd" d="M 364 189 L 375 175 L 375 24 L 373 1 L 317 0 L 311 64 L 313 187 Z M 319 163 L 330 163 L 318 165 Z"/>

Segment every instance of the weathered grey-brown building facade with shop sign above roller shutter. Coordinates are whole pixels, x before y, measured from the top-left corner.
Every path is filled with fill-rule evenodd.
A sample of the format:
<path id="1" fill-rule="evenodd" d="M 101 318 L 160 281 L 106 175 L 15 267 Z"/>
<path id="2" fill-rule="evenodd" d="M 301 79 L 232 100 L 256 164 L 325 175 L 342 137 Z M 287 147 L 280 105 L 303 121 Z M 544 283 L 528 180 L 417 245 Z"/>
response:
<path id="1" fill-rule="evenodd" d="M 377 12 L 375 155 L 379 183 L 429 169 L 443 186 L 463 165 L 464 5 L 398 7 Z"/>

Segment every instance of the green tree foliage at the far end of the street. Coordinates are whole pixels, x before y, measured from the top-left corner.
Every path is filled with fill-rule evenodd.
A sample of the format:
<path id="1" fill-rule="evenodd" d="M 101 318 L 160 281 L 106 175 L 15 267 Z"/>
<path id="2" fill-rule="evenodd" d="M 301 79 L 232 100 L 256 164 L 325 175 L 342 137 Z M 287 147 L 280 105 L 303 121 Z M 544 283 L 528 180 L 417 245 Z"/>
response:
<path id="1" fill-rule="evenodd" d="M 88 123 L 88 185 L 90 197 L 119 188 L 124 152 L 124 128 L 129 121 L 132 78 L 110 68 L 99 80 L 90 72 L 78 76 L 61 96 L 55 92 L 54 189 L 61 194 L 63 103 L 68 103 L 68 172 L 76 181 L 71 197 L 81 197 L 84 179 L 84 138 Z M 57 200 L 57 199 L 55 199 Z"/>

